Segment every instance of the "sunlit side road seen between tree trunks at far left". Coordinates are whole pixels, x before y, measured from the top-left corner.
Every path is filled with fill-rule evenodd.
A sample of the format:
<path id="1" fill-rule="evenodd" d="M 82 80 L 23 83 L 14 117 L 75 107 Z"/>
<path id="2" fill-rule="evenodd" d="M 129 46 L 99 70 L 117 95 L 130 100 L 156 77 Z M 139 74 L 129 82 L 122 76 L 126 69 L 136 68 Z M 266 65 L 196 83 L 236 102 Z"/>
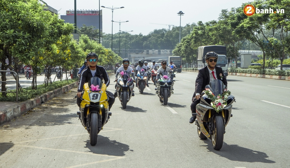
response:
<path id="1" fill-rule="evenodd" d="M 57 79 L 57 77 L 55 77 L 55 75 L 56 75 L 56 73 L 52 73 L 51 80 L 52 81 L 54 79 L 55 79 L 55 81 L 60 80 L 60 79 Z M 66 74 L 64 73 L 62 79 L 64 80 L 65 78 L 66 78 Z M 37 84 L 43 84 L 44 83 L 44 79 L 45 79 L 44 73 L 42 73 L 42 75 L 38 74 L 37 78 L 36 78 Z M 70 79 L 70 77 L 68 79 Z M 15 80 L 14 79 L 8 79 L 7 81 L 15 81 Z M 26 77 L 19 78 L 19 84 L 21 85 L 22 88 L 31 86 L 31 83 L 32 83 L 32 78 L 30 78 L 30 79 L 26 79 Z M 7 83 L 6 86 L 10 90 L 16 89 L 16 83 Z"/>

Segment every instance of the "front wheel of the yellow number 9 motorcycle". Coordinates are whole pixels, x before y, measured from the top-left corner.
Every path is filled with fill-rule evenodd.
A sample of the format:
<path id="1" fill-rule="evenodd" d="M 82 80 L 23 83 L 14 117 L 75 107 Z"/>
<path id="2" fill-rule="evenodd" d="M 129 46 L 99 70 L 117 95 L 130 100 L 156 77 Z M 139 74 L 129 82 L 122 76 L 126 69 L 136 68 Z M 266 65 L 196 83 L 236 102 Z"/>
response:
<path id="1" fill-rule="evenodd" d="M 90 114 L 90 144 L 92 146 L 97 144 L 97 138 L 98 138 L 98 113 L 91 113 Z"/>

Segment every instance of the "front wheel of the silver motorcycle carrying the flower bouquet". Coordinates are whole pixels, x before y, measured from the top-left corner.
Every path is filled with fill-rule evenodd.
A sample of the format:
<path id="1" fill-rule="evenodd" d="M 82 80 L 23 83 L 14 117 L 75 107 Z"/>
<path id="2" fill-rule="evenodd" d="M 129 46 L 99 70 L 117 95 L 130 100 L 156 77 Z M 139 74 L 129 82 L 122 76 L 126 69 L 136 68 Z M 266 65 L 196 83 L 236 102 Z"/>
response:
<path id="1" fill-rule="evenodd" d="M 211 142 L 213 144 L 213 149 L 220 150 L 222 148 L 224 142 L 224 121 L 220 115 L 214 116 Z"/>

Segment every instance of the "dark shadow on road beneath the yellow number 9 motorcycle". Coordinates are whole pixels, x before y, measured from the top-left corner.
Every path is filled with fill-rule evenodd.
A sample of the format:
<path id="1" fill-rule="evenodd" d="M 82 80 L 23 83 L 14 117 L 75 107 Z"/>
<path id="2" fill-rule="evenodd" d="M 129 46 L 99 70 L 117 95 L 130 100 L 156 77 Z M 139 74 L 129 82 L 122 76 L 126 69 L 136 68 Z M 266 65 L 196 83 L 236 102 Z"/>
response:
<path id="1" fill-rule="evenodd" d="M 102 131 L 101 131 L 102 132 Z M 129 145 L 110 140 L 108 137 L 98 135 L 97 145 L 90 145 L 90 140 L 86 141 L 85 148 L 94 154 L 110 155 L 110 156 L 125 156 L 125 152 L 129 150 Z"/>

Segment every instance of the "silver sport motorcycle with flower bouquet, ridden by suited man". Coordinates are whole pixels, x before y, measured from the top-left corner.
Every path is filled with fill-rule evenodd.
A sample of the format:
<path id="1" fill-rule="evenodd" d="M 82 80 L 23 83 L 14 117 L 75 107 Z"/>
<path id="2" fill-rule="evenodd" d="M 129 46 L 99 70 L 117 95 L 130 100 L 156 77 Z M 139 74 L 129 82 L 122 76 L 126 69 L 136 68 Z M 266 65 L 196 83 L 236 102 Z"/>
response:
<path id="1" fill-rule="evenodd" d="M 221 80 L 213 80 L 205 88 L 216 97 L 219 94 L 222 95 L 226 90 L 226 86 Z M 196 113 L 192 113 L 197 117 L 197 134 L 200 139 L 211 139 L 213 149 L 220 150 L 224 141 L 225 127 L 233 116 L 231 110 L 235 97 L 229 95 L 224 109 L 215 111 L 212 100 L 208 98 L 205 91 L 202 92 L 201 96 L 200 103 L 196 105 Z"/>

